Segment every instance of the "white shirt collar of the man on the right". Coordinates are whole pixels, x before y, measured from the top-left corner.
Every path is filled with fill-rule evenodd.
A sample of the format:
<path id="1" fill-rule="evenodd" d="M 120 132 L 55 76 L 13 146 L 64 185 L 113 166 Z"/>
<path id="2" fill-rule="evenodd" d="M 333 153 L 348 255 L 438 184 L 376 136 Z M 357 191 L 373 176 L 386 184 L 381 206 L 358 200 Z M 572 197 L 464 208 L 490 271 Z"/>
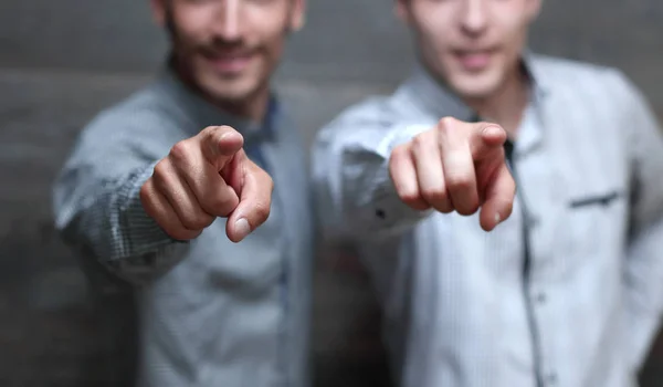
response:
<path id="1" fill-rule="evenodd" d="M 525 50 L 522 55 L 522 65 L 529 76 L 533 98 L 537 103 L 548 94 L 549 87 L 545 83 L 536 55 L 532 51 Z M 430 71 L 419 62 L 415 64 L 408 84 L 412 96 L 435 116 L 452 116 L 462 121 L 480 119 L 476 112 L 435 80 Z"/>

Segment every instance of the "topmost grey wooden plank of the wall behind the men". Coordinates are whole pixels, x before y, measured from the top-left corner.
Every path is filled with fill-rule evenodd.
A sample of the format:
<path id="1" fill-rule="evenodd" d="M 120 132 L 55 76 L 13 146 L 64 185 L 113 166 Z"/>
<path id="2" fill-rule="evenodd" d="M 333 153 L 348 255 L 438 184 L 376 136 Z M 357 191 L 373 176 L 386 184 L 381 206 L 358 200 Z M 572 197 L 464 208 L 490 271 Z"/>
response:
<path id="1" fill-rule="evenodd" d="M 0 63 L 110 72 L 150 71 L 165 49 L 148 0 L 4 0 Z M 392 0 L 309 0 L 284 74 L 307 80 L 394 82 L 410 63 Z M 650 95 L 660 84 L 663 4 L 655 0 L 544 1 L 534 45 L 547 53 L 618 65 Z M 343 23 L 343 27 L 341 27 Z M 381 44 L 376 44 L 381 42 Z M 659 82 L 656 82 L 659 81 Z M 661 103 L 661 92 L 656 100 Z"/>

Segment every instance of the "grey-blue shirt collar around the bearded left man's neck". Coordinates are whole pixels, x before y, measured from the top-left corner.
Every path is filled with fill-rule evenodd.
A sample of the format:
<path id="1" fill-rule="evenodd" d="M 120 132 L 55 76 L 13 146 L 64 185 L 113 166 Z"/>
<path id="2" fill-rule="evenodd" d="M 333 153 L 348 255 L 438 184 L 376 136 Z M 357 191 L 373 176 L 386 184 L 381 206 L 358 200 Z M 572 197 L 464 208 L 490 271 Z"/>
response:
<path id="1" fill-rule="evenodd" d="M 159 74 L 158 83 L 169 94 L 178 108 L 192 121 L 194 130 L 208 126 L 228 125 L 240 132 L 245 142 L 252 139 L 274 139 L 280 126 L 282 107 L 276 93 L 270 93 L 266 114 L 262 122 L 254 122 L 230 114 L 204 100 L 199 93 L 187 85 L 172 66 L 168 63 Z"/>

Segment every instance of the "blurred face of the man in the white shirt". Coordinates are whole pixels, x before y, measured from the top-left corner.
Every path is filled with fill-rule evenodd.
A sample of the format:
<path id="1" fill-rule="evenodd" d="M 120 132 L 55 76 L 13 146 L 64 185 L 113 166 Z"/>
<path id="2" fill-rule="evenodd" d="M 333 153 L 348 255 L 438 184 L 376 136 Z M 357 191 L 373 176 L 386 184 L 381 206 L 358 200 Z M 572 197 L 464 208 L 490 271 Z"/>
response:
<path id="1" fill-rule="evenodd" d="M 540 0 L 398 0 L 424 65 L 463 98 L 494 95 L 519 69 Z"/>

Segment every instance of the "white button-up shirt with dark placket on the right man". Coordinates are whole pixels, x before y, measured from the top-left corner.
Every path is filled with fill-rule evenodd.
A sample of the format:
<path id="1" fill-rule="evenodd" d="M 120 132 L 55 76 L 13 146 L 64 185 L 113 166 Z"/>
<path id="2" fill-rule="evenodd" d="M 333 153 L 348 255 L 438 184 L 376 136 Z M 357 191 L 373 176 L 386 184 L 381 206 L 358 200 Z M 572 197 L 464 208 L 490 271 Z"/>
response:
<path id="1" fill-rule="evenodd" d="M 653 114 L 619 71 L 536 55 L 525 64 L 534 98 L 514 150 L 518 196 L 493 232 L 477 216 L 415 212 L 394 192 L 393 146 L 441 117 L 474 117 L 422 69 L 315 143 L 325 234 L 362 252 L 400 386 L 633 386 L 659 328 Z"/>

